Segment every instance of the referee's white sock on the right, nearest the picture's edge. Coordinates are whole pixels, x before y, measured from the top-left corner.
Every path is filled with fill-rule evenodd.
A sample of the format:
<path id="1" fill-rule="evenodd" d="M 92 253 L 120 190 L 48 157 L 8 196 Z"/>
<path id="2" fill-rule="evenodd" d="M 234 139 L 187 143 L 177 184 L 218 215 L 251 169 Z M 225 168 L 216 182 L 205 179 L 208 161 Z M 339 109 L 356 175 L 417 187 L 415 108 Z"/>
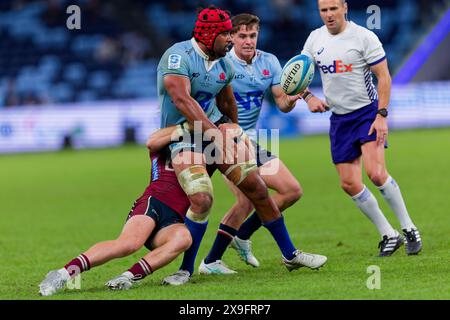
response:
<path id="1" fill-rule="evenodd" d="M 380 190 L 381 195 L 386 200 L 386 202 L 394 211 L 402 229 L 410 230 L 411 228 L 416 229 L 416 226 L 411 221 L 409 217 L 408 210 L 406 210 L 405 202 L 403 201 L 402 193 L 395 180 L 389 176 L 386 182 L 381 186 L 377 187 Z"/>

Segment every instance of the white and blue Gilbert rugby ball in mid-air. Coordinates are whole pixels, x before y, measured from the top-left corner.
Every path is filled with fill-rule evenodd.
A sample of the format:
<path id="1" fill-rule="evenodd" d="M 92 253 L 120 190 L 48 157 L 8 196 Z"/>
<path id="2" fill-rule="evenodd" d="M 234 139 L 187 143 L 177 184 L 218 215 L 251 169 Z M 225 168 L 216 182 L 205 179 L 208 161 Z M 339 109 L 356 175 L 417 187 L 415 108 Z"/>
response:
<path id="1" fill-rule="evenodd" d="M 303 92 L 314 78 L 314 63 L 310 57 L 299 54 L 286 62 L 281 70 L 281 89 L 290 96 Z"/>

